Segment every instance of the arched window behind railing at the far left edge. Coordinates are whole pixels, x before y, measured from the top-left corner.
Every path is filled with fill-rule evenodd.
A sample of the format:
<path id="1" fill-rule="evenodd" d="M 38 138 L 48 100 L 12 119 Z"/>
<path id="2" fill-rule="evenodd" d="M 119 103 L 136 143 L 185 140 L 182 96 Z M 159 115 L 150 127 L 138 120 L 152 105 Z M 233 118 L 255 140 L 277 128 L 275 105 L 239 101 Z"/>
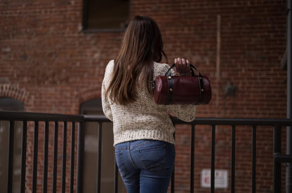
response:
<path id="1" fill-rule="evenodd" d="M 0 110 L 23 111 L 24 104 L 12 98 L 0 97 Z M 0 192 L 7 192 L 9 122 L 0 121 Z M 14 124 L 13 192 L 20 192 L 22 122 Z M 5 158 L 5 159 L 4 159 Z"/>

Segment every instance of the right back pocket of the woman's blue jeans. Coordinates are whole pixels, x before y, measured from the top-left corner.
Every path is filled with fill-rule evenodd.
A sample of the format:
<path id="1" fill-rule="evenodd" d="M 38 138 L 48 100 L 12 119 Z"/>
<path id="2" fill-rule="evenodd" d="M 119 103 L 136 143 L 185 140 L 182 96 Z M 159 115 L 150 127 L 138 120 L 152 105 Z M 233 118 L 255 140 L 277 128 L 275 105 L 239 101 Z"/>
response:
<path id="1" fill-rule="evenodd" d="M 166 169 L 166 148 L 165 145 L 153 144 L 138 150 L 144 169 L 159 171 Z"/>

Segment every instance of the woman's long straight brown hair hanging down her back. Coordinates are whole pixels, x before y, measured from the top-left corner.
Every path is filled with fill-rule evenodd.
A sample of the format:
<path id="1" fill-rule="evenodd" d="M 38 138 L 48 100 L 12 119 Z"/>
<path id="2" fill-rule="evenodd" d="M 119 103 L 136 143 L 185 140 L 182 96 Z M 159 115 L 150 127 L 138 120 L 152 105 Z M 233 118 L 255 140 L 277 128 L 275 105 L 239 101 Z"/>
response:
<path id="1" fill-rule="evenodd" d="M 166 57 L 157 23 L 150 17 L 135 16 L 128 24 L 118 57 L 114 60 L 112 80 L 105 96 L 123 105 L 135 101 L 135 85 L 140 74 L 151 94 L 153 62 L 161 62 L 162 55 Z"/>

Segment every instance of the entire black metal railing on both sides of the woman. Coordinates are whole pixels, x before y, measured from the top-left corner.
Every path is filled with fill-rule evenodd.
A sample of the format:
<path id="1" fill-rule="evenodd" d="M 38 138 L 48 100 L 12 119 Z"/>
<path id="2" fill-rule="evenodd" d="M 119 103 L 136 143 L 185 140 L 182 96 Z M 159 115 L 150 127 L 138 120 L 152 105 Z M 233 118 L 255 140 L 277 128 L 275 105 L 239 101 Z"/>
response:
<path id="1" fill-rule="evenodd" d="M 61 192 L 82 192 L 82 177 L 83 177 L 83 157 L 84 157 L 84 124 L 85 122 L 98 122 L 98 174 L 97 174 L 97 192 L 100 192 L 100 171 L 101 171 L 101 142 L 102 142 L 102 122 L 110 122 L 102 115 L 60 115 L 48 113 L 18 113 L 0 111 L 0 121 L 5 120 L 10 124 L 8 136 L 8 171 L 7 171 L 7 192 L 13 192 L 13 144 L 14 144 L 14 125 L 16 121 L 22 122 L 22 150 L 21 150 L 21 171 L 20 171 L 20 192 L 25 192 L 26 183 L 26 167 L 27 167 L 27 129 L 30 122 L 34 124 L 33 136 L 33 158 L 32 158 L 32 192 L 37 190 L 37 172 L 38 172 L 38 146 L 39 146 L 39 123 L 44 122 L 44 152 L 43 152 L 43 177 L 42 177 L 42 192 L 48 190 L 48 134 L 50 125 L 53 124 L 53 180 L 52 192 L 58 189 L 57 183 L 57 159 L 58 159 L 58 130 L 62 124 L 62 179 L 60 184 Z M 254 193 L 256 185 L 256 129 L 259 126 L 273 127 L 274 133 L 274 192 L 281 192 L 281 163 L 291 163 L 291 155 L 281 155 L 281 128 L 292 126 L 292 120 L 288 119 L 233 119 L 233 118 L 196 118 L 193 122 L 183 122 L 178 119 L 173 119 L 173 124 L 190 124 L 191 126 L 191 159 L 190 159 L 190 192 L 194 192 L 194 136 L 195 127 L 197 125 L 209 125 L 211 129 L 211 192 L 215 191 L 215 131 L 218 125 L 231 126 L 231 178 L 230 191 L 235 190 L 235 136 L 238 126 L 249 126 L 252 131 L 252 173 L 251 173 L 251 190 Z M 69 125 L 69 127 L 68 127 Z M 77 143 L 75 140 L 75 129 L 78 125 Z M 71 141 L 67 144 L 67 131 L 71 129 Z M 66 176 L 66 159 L 67 145 L 71 148 L 69 178 Z M 75 147 L 77 145 L 77 150 Z M 77 151 L 77 155 L 75 152 Z M 77 166 L 75 167 L 75 156 L 77 157 Z M 76 173 L 76 174 L 75 174 Z M 74 187 L 74 174 L 76 179 L 76 187 Z M 118 190 L 117 183 L 118 171 L 117 166 L 114 173 L 114 192 Z M 66 183 L 69 179 L 69 190 L 66 191 Z M 174 192 L 175 176 L 171 180 L 171 192 Z"/>

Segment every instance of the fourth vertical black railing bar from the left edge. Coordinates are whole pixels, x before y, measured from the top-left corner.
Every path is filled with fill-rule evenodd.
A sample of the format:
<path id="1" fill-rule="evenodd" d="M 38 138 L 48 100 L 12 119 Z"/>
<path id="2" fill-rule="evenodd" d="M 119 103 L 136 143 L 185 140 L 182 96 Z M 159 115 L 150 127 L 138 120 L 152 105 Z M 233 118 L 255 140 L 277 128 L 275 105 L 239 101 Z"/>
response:
<path id="1" fill-rule="evenodd" d="M 45 122 L 44 132 L 44 171 L 43 171 L 43 192 L 47 192 L 48 187 L 48 121 Z"/>

